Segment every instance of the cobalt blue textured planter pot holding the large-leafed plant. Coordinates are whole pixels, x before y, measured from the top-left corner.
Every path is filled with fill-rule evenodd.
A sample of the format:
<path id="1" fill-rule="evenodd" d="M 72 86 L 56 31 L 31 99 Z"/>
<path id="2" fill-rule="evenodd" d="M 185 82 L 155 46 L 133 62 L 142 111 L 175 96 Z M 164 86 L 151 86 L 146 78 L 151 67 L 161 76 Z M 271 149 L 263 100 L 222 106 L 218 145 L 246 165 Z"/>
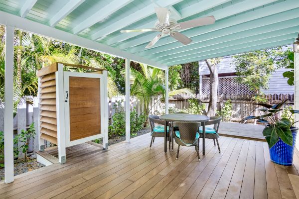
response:
<path id="1" fill-rule="evenodd" d="M 284 143 L 281 138 L 279 138 L 279 141 L 271 149 L 269 149 L 270 159 L 272 162 L 285 166 L 292 165 L 298 128 L 292 127 L 291 131 L 293 134 L 293 146 Z"/>

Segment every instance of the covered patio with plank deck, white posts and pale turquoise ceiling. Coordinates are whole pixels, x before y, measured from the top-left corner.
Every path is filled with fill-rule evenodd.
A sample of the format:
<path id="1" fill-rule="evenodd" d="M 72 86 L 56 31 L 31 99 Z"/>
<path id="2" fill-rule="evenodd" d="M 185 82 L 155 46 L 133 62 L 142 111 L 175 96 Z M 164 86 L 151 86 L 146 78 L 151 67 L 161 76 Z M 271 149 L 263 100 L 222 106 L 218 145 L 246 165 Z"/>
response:
<path id="1" fill-rule="evenodd" d="M 157 33 L 120 32 L 154 27 L 157 6 L 167 7 L 178 22 L 211 15 L 216 21 L 178 30 L 192 39 L 187 45 L 164 36 L 145 49 Z M 222 136 L 221 153 L 207 140 L 204 156 L 199 147 L 198 162 L 192 147 L 181 147 L 175 160 L 175 149 L 164 153 L 162 139 L 156 139 L 151 150 L 149 134 L 130 139 L 131 61 L 165 70 L 168 113 L 168 67 L 293 44 L 299 33 L 298 0 L 0 0 L 0 24 L 6 27 L 5 181 L 0 184 L 0 198 L 299 198 L 297 149 L 293 166 L 285 167 L 270 161 L 266 142 Z M 68 159 L 14 177 L 15 29 L 126 60 L 125 142 L 108 150 L 103 150 L 108 140 L 104 146 L 88 142 L 66 151 L 45 150 L 45 155 Z M 299 109 L 299 46 L 294 49 L 295 109 Z M 101 111 L 108 118 L 105 110 Z M 107 128 L 104 133 L 108 134 Z"/>

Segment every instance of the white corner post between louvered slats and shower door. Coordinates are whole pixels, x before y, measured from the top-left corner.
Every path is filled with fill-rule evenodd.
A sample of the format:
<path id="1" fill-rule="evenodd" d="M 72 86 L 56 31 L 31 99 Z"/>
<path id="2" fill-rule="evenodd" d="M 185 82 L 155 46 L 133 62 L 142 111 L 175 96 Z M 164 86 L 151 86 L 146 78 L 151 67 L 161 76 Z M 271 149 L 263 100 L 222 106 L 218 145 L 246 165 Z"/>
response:
<path id="1" fill-rule="evenodd" d="M 63 83 L 63 64 L 58 64 L 56 74 L 56 117 L 57 117 L 57 145 L 58 145 L 58 162 L 66 162 L 66 141 L 64 128 L 64 83 Z"/>

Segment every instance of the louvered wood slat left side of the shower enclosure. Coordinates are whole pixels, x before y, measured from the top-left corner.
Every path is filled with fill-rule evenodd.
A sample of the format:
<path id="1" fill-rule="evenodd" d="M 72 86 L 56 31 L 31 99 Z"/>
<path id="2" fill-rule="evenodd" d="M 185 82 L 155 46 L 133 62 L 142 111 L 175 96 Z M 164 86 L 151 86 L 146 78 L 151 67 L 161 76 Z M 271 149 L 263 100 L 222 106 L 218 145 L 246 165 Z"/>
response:
<path id="1" fill-rule="evenodd" d="M 57 144 L 56 75 L 58 64 L 53 63 L 37 71 L 39 77 L 40 138 Z"/>

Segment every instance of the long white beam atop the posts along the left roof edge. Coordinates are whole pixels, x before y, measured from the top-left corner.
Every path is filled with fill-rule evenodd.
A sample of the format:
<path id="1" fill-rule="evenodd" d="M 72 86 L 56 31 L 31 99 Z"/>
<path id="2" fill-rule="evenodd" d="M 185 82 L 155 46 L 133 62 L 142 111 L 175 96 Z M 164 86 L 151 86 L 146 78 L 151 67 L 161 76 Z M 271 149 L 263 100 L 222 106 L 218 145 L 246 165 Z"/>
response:
<path id="1" fill-rule="evenodd" d="M 138 55 L 134 55 L 132 53 L 122 51 L 111 46 L 107 46 L 105 44 L 101 44 L 99 42 L 91 41 L 89 39 L 74 35 L 69 32 L 65 32 L 54 27 L 50 27 L 41 23 L 37 23 L 35 21 L 31 21 L 25 18 L 21 18 L 19 16 L 9 14 L 7 12 L 0 11 L 0 24 L 2 25 L 10 25 L 17 29 L 31 32 L 33 34 L 38 34 L 45 37 L 50 37 L 55 40 L 63 41 L 69 44 L 73 44 L 76 46 L 80 46 L 83 48 L 87 48 L 90 50 L 94 50 L 97 52 L 102 52 L 106 54 L 110 54 L 120 58 L 131 59 L 132 61 L 136 61 L 139 63 L 147 64 L 149 66 L 153 66 L 160 69 L 165 69 L 166 65 L 140 57 Z"/>

